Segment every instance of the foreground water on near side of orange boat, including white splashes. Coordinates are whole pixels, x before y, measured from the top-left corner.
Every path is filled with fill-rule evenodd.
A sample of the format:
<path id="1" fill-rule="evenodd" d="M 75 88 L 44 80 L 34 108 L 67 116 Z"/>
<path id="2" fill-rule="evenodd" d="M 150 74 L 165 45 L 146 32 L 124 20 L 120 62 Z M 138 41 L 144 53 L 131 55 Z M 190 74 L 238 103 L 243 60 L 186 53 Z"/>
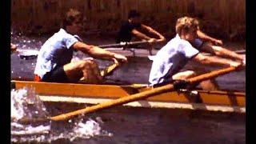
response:
<path id="1" fill-rule="evenodd" d="M 12 91 L 12 99 L 24 109 L 27 91 Z M 21 101 L 23 99 L 24 101 Z M 34 103 L 35 104 L 35 103 Z M 58 115 L 84 108 L 84 104 L 43 103 L 47 113 Z M 37 106 L 35 106 L 37 107 Z M 40 106 L 39 106 L 40 107 Z M 12 113 L 13 111 L 12 107 Z M 26 109 L 27 110 L 27 109 Z M 33 109 L 26 112 L 33 114 Z M 27 113 L 21 113 L 26 114 Z M 12 119 L 21 118 L 14 117 Z M 44 114 L 43 114 L 44 115 Z M 43 116 L 42 115 L 42 116 Z M 34 117 L 36 114 L 34 115 Z M 40 117 L 42 117 L 40 116 Z M 21 125 L 12 120 L 13 143 L 245 143 L 245 114 L 202 110 L 146 109 L 117 106 L 63 122 Z"/>

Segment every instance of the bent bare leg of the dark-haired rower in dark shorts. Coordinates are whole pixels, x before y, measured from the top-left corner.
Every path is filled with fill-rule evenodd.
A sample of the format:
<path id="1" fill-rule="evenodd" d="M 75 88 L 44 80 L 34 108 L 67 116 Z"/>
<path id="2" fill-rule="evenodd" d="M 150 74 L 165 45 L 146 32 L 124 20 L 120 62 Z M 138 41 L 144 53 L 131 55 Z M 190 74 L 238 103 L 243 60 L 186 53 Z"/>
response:
<path id="1" fill-rule="evenodd" d="M 63 66 L 63 69 L 66 72 L 67 78 L 70 79 L 70 82 L 78 82 L 80 79 L 85 83 L 102 82 L 98 64 L 93 60 L 71 62 Z"/>

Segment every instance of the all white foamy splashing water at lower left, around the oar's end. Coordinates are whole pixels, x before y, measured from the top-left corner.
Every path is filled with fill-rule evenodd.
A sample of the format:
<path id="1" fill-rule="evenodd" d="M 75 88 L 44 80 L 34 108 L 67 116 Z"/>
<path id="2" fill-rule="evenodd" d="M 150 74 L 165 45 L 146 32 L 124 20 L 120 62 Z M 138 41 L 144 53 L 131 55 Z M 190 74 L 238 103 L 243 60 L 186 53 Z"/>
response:
<path id="1" fill-rule="evenodd" d="M 11 142 L 52 142 L 58 139 L 68 139 L 70 142 L 77 138 L 91 138 L 94 136 L 112 136 L 102 130 L 101 118 L 77 118 L 68 121 L 68 128 L 53 122 L 35 123 L 28 125 L 18 123 L 21 118 L 46 118 L 49 116 L 46 107 L 40 101 L 33 88 L 11 91 Z M 61 126 L 58 128 L 58 126 Z M 58 131 L 61 130 L 61 131 Z"/>

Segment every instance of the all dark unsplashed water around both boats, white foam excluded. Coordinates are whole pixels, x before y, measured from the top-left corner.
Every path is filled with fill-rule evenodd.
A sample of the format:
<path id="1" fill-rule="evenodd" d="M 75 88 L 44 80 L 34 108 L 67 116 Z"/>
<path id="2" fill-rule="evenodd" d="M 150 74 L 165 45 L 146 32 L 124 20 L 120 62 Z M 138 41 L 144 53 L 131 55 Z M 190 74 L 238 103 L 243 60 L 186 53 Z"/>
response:
<path id="1" fill-rule="evenodd" d="M 22 49 L 39 50 L 48 36 L 41 38 L 13 36 L 12 42 Z M 91 40 L 92 44 L 114 43 L 113 39 Z M 84 58 L 82 54 L 75 57 Z M 11 55 L 12 78 L 34 78 L 36 59 L 24 60 L 18 54 Z M 110 62 L 98 61 L 101 68 Z M 191 64 L 196 66 L 195 64 Z M 129 58 L 129 62 L 107 77 L 110 82 L 147 83 L 151 62 L 147 58 Z M 206 67 L 208 70 L 218 67 Z M 217 78 L 222 89 L 245 90 L 245 70 L 233 72 Z M 82 105 L 83 106 L 83 105 Z M 51 115 L 82 108 L 74 104 L 46 103 Z M 57 112 L 56 112 L 57 110 Z M 245 114 L 206 112 L 201 110 L 146 109 L 117 106 L 85 116 L 102 118 L 101 127 L 112 133 L 112 137 L 95 136 L 89 139 L 58 139 L 51 143 L 245 143 Z M 65 130 L 69 123 L 54 124 L 54 130 Z"/>

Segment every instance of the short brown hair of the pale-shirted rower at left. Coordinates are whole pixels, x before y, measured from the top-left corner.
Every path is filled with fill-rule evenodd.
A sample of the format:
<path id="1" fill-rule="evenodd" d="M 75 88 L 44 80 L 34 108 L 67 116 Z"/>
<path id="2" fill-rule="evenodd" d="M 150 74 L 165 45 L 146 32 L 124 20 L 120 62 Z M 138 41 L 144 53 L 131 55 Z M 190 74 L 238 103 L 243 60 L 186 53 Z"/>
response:
<path id="1" fill-rule="evenodd" d="M 75 9 L 68 10 L 62 22 L 63 28 L 66 29 L 66 26 L 70 26 L 72 22 L 74 22 L 74 19 L 80 16 L 82 16 L 82 13 L 80 11 Z"/>

